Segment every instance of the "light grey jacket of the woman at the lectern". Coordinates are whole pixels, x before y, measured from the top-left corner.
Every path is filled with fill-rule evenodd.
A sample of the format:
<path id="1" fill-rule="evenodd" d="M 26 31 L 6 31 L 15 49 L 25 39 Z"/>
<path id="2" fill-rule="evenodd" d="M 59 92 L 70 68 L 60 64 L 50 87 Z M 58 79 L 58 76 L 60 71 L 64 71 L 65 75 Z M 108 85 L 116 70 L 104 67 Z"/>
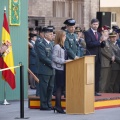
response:
<path id="1" fill-rule="evenodd" d="M 59 44 L 56 44 L 53 48 L 52 59 L 53 68 L 57 70 L 64 70 L 65 51 L 60 47 Z"/>

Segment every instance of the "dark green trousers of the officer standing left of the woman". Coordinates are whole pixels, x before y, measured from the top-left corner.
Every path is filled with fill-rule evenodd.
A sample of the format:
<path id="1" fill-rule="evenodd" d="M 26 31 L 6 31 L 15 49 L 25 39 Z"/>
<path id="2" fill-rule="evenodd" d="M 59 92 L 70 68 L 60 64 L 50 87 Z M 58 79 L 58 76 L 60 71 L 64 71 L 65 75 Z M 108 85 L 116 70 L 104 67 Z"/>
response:
<path id="1" fill-rule="evenodd" d="M 40 80 L 40 107 L 51 107 L 52 92 L 54 88 L 54 75 L 39 75 L 38 78 Z"/>

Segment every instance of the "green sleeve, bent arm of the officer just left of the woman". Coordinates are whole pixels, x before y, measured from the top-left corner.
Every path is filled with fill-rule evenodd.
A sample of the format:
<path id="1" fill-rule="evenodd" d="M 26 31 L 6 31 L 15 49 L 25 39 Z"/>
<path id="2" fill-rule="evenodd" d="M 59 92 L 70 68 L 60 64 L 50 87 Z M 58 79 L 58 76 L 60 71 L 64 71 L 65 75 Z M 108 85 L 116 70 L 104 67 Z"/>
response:
<path id="1" fill-rule="evenodd" d="M 47 57 L 46 52 L 45 52 L 45 46 L 42 43 L 39 43 L 36 45 L 36 52 L 38 55 L 38 58 L 43 64 L 51 67 L 52 60 Z"/>

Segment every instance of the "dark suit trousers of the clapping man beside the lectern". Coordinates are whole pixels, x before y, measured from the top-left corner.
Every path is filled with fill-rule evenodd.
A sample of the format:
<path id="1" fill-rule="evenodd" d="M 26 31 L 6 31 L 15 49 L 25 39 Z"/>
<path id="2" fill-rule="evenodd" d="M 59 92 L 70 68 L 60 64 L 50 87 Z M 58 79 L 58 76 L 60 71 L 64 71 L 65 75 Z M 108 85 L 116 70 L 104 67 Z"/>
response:
<path id="1" fill-rule="evenodd" d="M 100 70 L 101 64 L 100 61 L 97 60 L 95 62 L 95 92 L 99 92 Z"/>

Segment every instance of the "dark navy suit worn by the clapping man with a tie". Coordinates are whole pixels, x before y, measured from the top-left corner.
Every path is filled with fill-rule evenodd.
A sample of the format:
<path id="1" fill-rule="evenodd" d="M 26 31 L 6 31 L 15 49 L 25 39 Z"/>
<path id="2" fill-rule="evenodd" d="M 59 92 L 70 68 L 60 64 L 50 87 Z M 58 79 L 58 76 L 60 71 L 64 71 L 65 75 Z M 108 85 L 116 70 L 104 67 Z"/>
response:
<path id="1" fill-rule="evenodd" d="M 96 39 L 91 28 L 85 31 L 85 41 L 86 41 L 86 55 L 96 55 L 95 56 L 95 92 L 99 92 L 99 78 L 100 78 L 100 68 L 101 68 L 101 43 L 100 34 L 98 34 L 98 40 Z"/>

